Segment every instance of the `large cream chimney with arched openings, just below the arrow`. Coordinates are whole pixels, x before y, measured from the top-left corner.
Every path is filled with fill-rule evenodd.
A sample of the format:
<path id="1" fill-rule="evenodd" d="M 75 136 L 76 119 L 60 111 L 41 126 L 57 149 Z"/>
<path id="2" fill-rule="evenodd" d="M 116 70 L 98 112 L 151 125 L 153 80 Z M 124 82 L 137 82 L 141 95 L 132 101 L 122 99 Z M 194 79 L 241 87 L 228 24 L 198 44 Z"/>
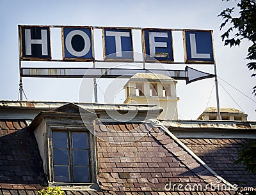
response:
<path id="1" fill-rule="evenodd" d="M 157 105 L 163 108 L 158 119 L 177 120 L 176 84 L 176 80 L 165 75 L 137 73 L 124 85 L 124 103 Z"/>

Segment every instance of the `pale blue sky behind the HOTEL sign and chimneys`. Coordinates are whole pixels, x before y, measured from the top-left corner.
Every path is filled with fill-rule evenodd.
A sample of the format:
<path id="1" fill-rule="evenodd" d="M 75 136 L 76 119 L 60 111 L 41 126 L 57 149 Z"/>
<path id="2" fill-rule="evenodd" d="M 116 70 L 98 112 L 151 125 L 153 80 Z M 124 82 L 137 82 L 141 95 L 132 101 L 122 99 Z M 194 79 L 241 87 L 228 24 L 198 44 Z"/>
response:
<path id="1" fill-rule="evenodd" d="M 193 1 L 0 1 L 0 99 L 19 99 L 19 36 L 18 25 L 74 25 L 108 27 L 150 27 L 161 29 L 207 29 L 213 30 L 214 50 L 217 67 L 220 106 L 237 108 L 256 120 L 256 98 L 252 87 L 256 85 L 252 72 L 244 60 L 250 43 L 242 41 L 240 47 L 230 48 L 221 41 L 218 14 L 237 1 L 193 0 Z M 52 58 L 61 59 L 61 31 L 51 29 Z M 140 31 L 132 31 L 134 52 L 141 52 Z M 95 30 L 95 58 L 102 59 L 100 29 Z M 173 32 L 175 61 L 184 62 L 182 34 Z M 88 67 L 88 62 L 22 62 L 22 67 Z M 111 66 L 111 64 L 96 64 Z M 185 64 L 166 64 L 168 69 L 184 69 Z M 191 68 L 214 73 L 212 64 L 189 64 Z M 22 78 L 24 92 L 32 101 L 79 101 L 81 78 Z M 123 103 L 124 85 L 127 79 L 97 80 L 100 103 Z M 84 82 L 84 80 L 83 80 Z M 84 101 L 93 102 L 93 80 L 85 80 L 83 89 L 88 93 Z M 231 86 L 232 87 L 231 87 Z M 237 90 L 236 90 L 237 89 Z M 241 92 L 243 94 L 241 94 Z M 246 96 L 244 96 L 244 94 Z M 177 84 L 179 119 L 195 120 L 207 106 L 216 106 L 214 78 L 186 85 L 184 80 Z M 250 99 L 251 98 L 251 99 Z M 24 99 L 26 99 L 24 97 Z"/>

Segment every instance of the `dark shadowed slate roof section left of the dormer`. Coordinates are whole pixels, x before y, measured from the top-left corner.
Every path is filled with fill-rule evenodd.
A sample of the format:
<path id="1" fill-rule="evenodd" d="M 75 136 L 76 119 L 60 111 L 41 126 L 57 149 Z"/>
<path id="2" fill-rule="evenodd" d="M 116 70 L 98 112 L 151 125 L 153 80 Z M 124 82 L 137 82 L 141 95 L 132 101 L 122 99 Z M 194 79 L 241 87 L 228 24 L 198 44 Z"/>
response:
<path id="1" fill-rule="evenodd" d="M 33 134 L 26 131 L 26 120 L 0 120 L 0 184 L 46 185 L 42 160 Z"/>

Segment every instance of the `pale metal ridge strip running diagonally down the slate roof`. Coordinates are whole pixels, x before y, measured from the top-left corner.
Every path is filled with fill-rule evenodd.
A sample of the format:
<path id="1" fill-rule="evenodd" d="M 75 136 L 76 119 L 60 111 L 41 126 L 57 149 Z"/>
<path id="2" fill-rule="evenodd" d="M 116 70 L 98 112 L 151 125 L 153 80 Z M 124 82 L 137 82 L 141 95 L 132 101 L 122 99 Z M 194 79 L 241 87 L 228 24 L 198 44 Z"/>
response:
<path id="1" fill-rule="evenodd" d="M 225 180 L 223 177 L 221 177 L 220 175 L 218 175 L 218 173 L 216 173 L 214 170 L 212 170 L 212 168 L 210 168 L 206 163 L 204 163 L 204 161 L 202 161 L 202 159 L 200 159 L 200 157 L 198 157 L 198 155 L 196 155 L 192 150 L 190 150 L 184 143 L 182 143 L 182 141 L 179 140 L 179 138 L 177 138 L 172 132 L 170 132 L 168 130 L 168 128 L 166 128 L 159 120 L 148 120 L 151 122 L 151 124 L 153 125 L 153 127 L 159 127 L 161 130 L 163 130 L 165 133 L 168 134 L 168 136 L 170 136 L 170 138 L 172 138 L 176 143 L 178 143 L 180 145 L 180 147 L 184 148 L 184 150 L 186 150 L 186 152 L 188 152 L 189 155 L 191 155 L 199 164 L 202 164 L 202 166 L 204 166 L 204 168 L 209 171 L 213 177 L 215 177 L 215 181 L 217 182 L 217 178 L 220 183 L 226 184 L 230 187 L 232 187 L 233 189 L 235 189 L 235 186 L 230 184 L 227 180 Z M 157 139 L 157 136 L 156 136 Z M 158 140 L 158 139 L 157 139 Z M 163 140 L 158 140 L 158 141 L 163 141 Z M 170 147 L 166 147 L 165 145 L 167 144 L 163 144 L 163 146 L 170 152 L 172 152 L 170 150 Z M 171 146 L 172 147 L 172 146 Z M 173 153 L 173 152 L 172 152 Z M 179 156 L 176 156 L 182 163 L 184 161 L 184 159 L 180 159 Z M 186 167 L 189 168 L 188 164 L 184 163 L 184 165 Z M 193 171 L 191 168 L 189 168 L 189 170 Z M 200 171 L 201 172 L 201 171 Z M 200 173 L 198 172 L 198 173 Z M 195 171 L 193 171 L 193 173 L 195 173 Z M 203 178 L 202 176 L 198 175 L 198 173 L 195 173 L 196 176 L 198 176 L 199 178 L 201 178 L 204 182 L 207 182 L 207 184 L 212 184 L 212 180 L 209 180 L 209 178 L 205 177 Z"/>

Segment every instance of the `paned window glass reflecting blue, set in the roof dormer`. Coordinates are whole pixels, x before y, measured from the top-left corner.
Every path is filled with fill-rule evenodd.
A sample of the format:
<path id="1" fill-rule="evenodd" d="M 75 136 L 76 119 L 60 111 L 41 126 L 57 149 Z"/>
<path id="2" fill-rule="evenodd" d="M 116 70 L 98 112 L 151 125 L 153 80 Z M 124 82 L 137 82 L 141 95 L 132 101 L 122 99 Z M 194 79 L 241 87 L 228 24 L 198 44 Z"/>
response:
<path id="1" fill-rule="evenodd" d="M 52 132 L 54 182 L 90 182 L 88 133 Z"/>

